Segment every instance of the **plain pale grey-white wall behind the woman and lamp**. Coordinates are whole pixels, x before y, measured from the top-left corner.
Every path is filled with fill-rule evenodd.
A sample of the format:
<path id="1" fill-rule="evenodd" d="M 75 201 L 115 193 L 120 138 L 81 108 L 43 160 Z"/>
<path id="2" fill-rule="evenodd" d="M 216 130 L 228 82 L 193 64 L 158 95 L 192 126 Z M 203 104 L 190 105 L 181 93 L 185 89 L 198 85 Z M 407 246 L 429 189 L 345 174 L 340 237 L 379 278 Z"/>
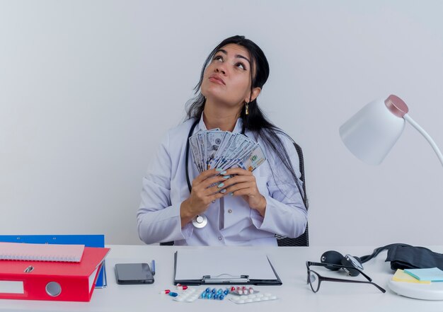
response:
<path id="1" fill-rule="evenodd" d="M 381 166 L 338 127 L 405 100 L 443 146 L 442 1 L 0 1 L 0 234 L 141 243 L 144 172 L 225 37 L 270 62 L 258 103 L 304 149 L 311 245 L 441 245 L 443 168 L 406 125 Z"/>

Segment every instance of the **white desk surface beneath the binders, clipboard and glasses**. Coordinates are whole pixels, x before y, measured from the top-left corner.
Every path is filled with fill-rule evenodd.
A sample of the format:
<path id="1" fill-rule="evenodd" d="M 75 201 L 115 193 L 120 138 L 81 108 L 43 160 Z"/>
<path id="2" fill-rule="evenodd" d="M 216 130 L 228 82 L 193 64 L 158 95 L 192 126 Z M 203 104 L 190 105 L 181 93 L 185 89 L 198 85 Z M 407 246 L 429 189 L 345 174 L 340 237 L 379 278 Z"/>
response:
<path id="1" fill-rule="evenodd" d="M 306 284 L 306 260 L 319 262 L 326 250 L 334 249 L 340 253 L 362 256 L 372 252 L 367 247 L 273 247 L 262 248 L 269 256 L 282 286 L 254 287 L 256 290 L 277 295 L 278 300 L 251 304 L 234 304 L 223 301 L 197 299 L 193 303 L 173 301 L 170 296 L 159 294 L 163 289 L 173 286 L 173 253 L 180 248 L 154 245 L 109 245 L 112 248 L 106 260 L 108 288 L 96 289 L 91 302 L 57 301 L 18 301 L 0 300 L 0 311 L 443 311 L 443 301 L 422 301 L 394 294 L 387 283 L 393 272 L 386 259 L 386 251 L 377 258 L 364 264 L 364 272 L 376 284 L 386 289 L 381 293 L 370 284 L 350 284 L 322 282 L 320 290 L 314 294 Z M 244 248 L 244 247 L 243 247 Z M 206 247 L 208 252 L 212 248 Z M 431 247 L 442 253 L 443 246 Z M 238 248 L 239 251 L 242 248 Z M 114 265 L 119 262 L 150 262 L 156 260 L 154 284 L 118 285 L 115 282 Z M 314 270 L 324 276 L 345 277 L 338 272 L 316 267 Z M 358 278 L 358 277 L 357 277 Z M 217 287 L 217 286 L 216 286 Z M 206 287 L 200 286 L 203 291 Z M 217 287 L 220 288 L 220 287 Z M 180 310 L 178 310 L 180 309 Z"/>

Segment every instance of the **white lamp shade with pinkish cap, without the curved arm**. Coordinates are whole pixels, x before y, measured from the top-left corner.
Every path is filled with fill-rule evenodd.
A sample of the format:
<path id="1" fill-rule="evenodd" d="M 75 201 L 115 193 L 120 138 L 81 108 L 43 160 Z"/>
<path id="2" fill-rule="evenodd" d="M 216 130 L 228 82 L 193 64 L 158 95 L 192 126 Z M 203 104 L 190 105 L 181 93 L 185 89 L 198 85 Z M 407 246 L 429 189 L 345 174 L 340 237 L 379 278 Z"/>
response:
<path id="1" fill-rule="evenodd" d="M 397 96 L 374 100 L 340 127 L 340 137 L 357 158 L 378 165 L 405 127 L 408 106 Z"/>

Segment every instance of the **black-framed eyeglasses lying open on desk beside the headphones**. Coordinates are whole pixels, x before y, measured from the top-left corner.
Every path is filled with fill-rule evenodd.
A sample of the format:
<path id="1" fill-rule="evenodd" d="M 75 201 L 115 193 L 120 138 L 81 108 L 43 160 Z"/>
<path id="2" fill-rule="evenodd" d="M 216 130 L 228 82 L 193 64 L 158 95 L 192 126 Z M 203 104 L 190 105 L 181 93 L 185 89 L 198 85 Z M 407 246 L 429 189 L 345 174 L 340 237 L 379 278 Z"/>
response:
<path id="1" fill-rule="evenodd" d="M 309 268 L 310 266 L 328 267 L 328 268 L 334 267 L 334 268 L 338 268 L 338 269 L 357 270 L 358 272 L 360 272 L 361 275 L 363 275 L 367 279 L 367 281 L 357 281 L 357 280 L 354 280 L 354 279 L 336 279 L 336 278 L 333 278 L 333 277 L 323 277 L 323 276 L 319 275 L 317 272 L 311 270 Z M 307 282 L 307 284 L 311 285 L 311 289 L 312 289 L 313 292 L 317 292 L 318 291 L 322 281 L 372 284 L 375 287 L 377 287 L 381 292 L 386 292 L 386 290 L 384 290 L 383 288 L 379 287 L 379 285 L 377 285 L 374 282 L 372 282 L 371 277 L 365 275 L 362 272 L 362 270 L 359 270 L 357 267 L 347 267 L 345 265 L 333 265 L 333 264 L 330 264 L 330 263 L 320 263 L 320 262 L 306 261 L 306 269 L 308 270 L 308 279 L 307 279 L 306 282 Z"/>

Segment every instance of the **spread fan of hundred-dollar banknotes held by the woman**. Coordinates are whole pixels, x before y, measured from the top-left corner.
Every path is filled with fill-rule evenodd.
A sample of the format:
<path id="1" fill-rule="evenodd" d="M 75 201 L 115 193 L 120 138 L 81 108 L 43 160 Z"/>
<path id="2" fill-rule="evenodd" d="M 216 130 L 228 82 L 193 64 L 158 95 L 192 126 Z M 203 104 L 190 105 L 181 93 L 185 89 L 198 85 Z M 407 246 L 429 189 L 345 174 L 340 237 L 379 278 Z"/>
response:
<path id="1" fill-rule="evenodd" d="M 189 143 L 200 173 L 213 168 L 254 171 L 266 160 L 260 144 L 241 133 L 205 130 L 190 137 Z"/>

